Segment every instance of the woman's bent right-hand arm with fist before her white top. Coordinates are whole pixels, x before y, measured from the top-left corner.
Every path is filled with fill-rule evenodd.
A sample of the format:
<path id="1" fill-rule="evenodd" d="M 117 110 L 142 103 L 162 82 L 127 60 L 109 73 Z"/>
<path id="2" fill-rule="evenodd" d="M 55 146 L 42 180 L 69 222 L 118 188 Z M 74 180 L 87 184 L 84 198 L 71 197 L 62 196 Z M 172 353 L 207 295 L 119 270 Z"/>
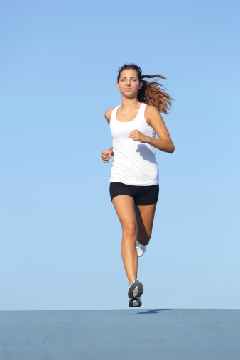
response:
<path id="1" fill-rule="evenodd" d="M 151 107 L 150 105 L 146 106 L 145 119 L 148 125 L 156 131 L 158 138 L 151 138 L 150 136 L 143 135 L 143 133 L 138 130 L 131 131 L 129 138 L 132 138 L 133 141 L 138 140 L 141 141 L 141 143 L 149 143 L 166 153 L 173 153 L 175 150 L 173 141 L 170 138 L 168 129 L 156 107 Z"/>

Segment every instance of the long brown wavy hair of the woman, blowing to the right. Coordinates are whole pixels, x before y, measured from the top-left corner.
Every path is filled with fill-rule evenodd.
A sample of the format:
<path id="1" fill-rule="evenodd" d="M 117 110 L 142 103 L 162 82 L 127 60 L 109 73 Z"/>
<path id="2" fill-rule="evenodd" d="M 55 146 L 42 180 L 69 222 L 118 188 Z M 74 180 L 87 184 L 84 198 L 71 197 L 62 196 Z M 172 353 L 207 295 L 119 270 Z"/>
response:
<path id="1" fill-rule="evenodd" d="M 164 86 L 164 84 L 160 84 L 157 81 L 158 78 L 166 80 L 166 77 L 158 74 L 142 75 L 141 67 L 138 67 L 135 64 L 124 64 L 124 66 L 119 68 L 119 75 L 117 77 L 118 82 L 121 72 L 128 69 L 136 70 L 139 82 L 143 83 L 141 89 L 138 90 L 138 101 L 144 102 L 147 105 L 152 105 L 153 107 L 156 107 L 159 112 L 164 112 L 165 114 L 168 114 L 168 110 L 172 106 L 173 98 L 170 97 L 167 92 L 165 92 L 166 87 Z M 143 77 L 147 79 L 153 79 L 155 81 L 149 82 L 147 80 L 143 80 Z"/>

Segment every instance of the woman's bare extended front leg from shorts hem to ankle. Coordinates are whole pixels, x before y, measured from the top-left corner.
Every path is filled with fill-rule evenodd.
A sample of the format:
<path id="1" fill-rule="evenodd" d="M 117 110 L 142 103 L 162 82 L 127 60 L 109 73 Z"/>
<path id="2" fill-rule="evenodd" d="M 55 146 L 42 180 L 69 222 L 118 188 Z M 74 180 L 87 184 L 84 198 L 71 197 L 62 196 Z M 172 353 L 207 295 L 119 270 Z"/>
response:
<path id="1" fill-rule="evenodd" d="M 132 279 L 137 279 L 138 256 L 136 252 L 136 240 L 138 238 L 138 224 L 134 200 L 128 195 L 119 195 L 112 200 L 116 214 L 121 222 L 123 237 L 121 241 L 121 256 L 124 262 L 126 276 L 129 285 Z"/>

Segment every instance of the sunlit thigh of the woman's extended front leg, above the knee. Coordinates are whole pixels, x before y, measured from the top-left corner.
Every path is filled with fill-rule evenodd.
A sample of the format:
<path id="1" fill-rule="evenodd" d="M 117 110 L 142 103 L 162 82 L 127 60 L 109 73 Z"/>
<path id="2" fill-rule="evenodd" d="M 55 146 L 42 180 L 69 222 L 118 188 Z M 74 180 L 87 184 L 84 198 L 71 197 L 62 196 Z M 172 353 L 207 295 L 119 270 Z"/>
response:
<path id="1" fill-rule="evenodd" d="M 131 227 L 138 231 L 133 197 L 128 195 L 119 195 L 113 198 L 112 203 L 114 204 L 116 214 L 119 217 L 123 230 L 127 227 Z"/>

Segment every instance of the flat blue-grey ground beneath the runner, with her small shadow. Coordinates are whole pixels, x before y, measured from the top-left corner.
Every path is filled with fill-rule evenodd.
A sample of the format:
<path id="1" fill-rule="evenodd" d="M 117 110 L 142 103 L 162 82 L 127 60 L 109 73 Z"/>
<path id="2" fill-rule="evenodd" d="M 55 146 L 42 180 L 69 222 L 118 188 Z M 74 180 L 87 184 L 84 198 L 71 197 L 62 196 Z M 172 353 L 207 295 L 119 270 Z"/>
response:
<path id="1" fill-rule="evenodd" d="M 1 360 L 239 360 L 240 310 L 0 312 Z"/>

